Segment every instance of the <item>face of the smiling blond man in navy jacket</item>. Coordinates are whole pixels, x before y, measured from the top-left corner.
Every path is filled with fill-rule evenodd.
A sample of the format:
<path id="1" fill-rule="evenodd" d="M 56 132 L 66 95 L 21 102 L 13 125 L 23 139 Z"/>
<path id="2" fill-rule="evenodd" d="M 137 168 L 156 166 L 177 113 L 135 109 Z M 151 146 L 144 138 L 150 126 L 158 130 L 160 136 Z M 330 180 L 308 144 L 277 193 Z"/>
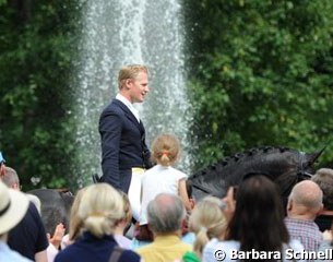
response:
<path id="1" fill-rule="evenodd" d="M 131 103 L 142 103 L 145 98 L 145 95 L 150 92 L 148 75 L 145 72 L 140 72 L 135 79 L 128 81 Z"/>

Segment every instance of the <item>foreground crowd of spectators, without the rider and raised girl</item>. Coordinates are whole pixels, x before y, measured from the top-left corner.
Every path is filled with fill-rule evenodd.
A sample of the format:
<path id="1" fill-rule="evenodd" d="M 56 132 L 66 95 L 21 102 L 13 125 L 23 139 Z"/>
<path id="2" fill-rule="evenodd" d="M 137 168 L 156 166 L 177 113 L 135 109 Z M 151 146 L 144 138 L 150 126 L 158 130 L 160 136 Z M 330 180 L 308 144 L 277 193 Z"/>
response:
<path id="1" fill-rule="evenodd" d="M 246 178 L 237 195 L 230 188 L 224 199 L 209 195 L 195 202 L 187 190 L 190 209 L 179 191 L 162 188 L 144 210 L 152 239 L 138 245 L 140 222 L 134 222 L 134 235 L 126 235 L 133 223 L 128 195 L 105 182 L 80 189 L 69 228 L 60 223 L 47 237 L 40 203 L 20 192 L 17 174 L 2 164 L 0 261 L 251 261 L 253 250 L 261 252 L 263 261 L 323 261 L 318 254 L 330 254 L 333 237 L 317 223 L 326 212 L 328 192 L 316 181 L 332 171 L 319 169 L 312 180 L 296 183 L 285 210 L 277 186 L 266 175 Z M 290 259 L 287 250 L 304 255 Z"/>

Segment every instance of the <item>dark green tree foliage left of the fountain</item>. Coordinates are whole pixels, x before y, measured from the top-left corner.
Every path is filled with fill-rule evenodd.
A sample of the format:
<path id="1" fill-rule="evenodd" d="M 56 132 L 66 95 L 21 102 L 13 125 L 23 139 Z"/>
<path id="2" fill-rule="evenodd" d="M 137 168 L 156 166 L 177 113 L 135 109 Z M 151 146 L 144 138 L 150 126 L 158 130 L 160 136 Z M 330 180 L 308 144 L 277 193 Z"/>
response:
<path id="1" fill-rule="evenodd" d="M 1 1 L 0 13 L 0 148 L 25 189 L 68 186 L 76 3 Z"/>

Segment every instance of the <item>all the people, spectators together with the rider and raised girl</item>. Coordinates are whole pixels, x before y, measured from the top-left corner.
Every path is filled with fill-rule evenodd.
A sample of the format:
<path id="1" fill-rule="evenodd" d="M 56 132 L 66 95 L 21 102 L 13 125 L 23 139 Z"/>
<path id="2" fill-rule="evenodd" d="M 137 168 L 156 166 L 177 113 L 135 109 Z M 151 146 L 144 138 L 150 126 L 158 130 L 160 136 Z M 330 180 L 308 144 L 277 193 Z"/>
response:
<path id="1" fill-rule="evenodd" d="M 332 169 L 297 182 L 287 206 L 269 174 L 194 200 L 176 168 L 179 140 L 160 134 L 146 146 L 133 104 L 150 91 L 147 68 L 122 68 L 118 86 L 99 120 L 103 176 L 75 193 L 68 228 L 46 231 L 43 203 L 21 192 L 0 153 L 0 261 L 333 261 Z"/>

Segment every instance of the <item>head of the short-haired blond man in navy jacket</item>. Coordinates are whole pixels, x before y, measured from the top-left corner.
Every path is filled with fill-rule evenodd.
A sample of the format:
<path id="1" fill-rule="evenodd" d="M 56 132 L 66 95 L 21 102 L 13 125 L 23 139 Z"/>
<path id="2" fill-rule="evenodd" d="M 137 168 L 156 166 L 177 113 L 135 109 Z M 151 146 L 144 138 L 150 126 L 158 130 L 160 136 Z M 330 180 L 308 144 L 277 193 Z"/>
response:
<path id="1" fill-rule="evenodd" d="M 128 100 L 142 103 L 150 92 L 148 70 L 142 64 L 130 64 L 120 69 L 118 74 L 119 93 Z"/>

